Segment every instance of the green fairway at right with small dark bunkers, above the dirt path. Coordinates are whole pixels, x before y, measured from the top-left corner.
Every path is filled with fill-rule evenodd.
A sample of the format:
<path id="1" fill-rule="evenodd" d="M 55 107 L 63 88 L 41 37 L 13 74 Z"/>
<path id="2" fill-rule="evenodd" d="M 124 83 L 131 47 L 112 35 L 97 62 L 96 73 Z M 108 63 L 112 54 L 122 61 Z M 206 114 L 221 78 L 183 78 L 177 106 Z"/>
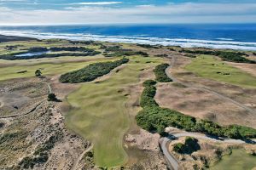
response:
<path id="1" fill-rule="evenodd" d="M 200 55 L 185 67 L 200 77 L 210 78 L 219 82 L 227 82 L 245 88 L 256 88 L 256 77 L 247 72 L 224 64 L 223 61 L 208 55 Z M 217 73 L 217 72 L 221 73 Z M 223 73 L 230 73 L 224 75 Z"/>

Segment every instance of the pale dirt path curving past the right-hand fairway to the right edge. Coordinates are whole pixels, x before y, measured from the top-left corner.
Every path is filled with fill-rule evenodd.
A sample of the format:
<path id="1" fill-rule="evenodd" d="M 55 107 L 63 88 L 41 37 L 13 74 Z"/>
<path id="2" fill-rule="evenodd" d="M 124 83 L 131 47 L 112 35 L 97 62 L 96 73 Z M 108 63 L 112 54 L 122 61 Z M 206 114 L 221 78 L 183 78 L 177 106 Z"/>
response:
<path id="1" fill-rule="evenodd" d="M 169 58 L 169 57 L 168 57 L 168 58 Z M 169 58 L 169 59 L 170 59 L 170 58 Z M 175 57 L 174 57 L 174 56 L 172 56 L 172 61 L 171 61 L 171 63 L 172 63 L 172 65 L 175 64 Z M 208 92 L 208 93 L 211 93 L 211 94 L 214 94 L 214 95 L 218 96 L 218 97 L 221 98 L 221 99 L 228 100 L 228 101 L 230 101 L 231 103 L 233 103 L 234 105 L 236 105 L 236 106 L 238 106 L 238 107 L 241 107 L 241 108 L 243 108 L 244 110 L 246 110 L 246 111 L 248 111 L 248 112 L 250 112 L 250 113 L 256 114 L 256 111 L 254 111 L 253 109 L 247 107 L 246 105 L 242 105 L 241 103 L 235 101 L 234 99 L 230 99 L 230 98 L 224 96 L 223 94 L 218 94 L 218 92 L 213 91 L 213 90 L 210 89 L 210 88 L 206 88 L 206 87 L 196 87 L 196 86 L 193 86 L 193 85 L 191 85 L 191 84 L 189 84 L 189 83 L 180 82 L 179 80 L 177 80 L 177 78 L 172 77 L 172 74 L 171 74 L 171 71 L 170 71 L 170 69 L 172 68 L 172 65 L 170 65 L 168 68 L 166 68 L 166 75 L 167 75 L 167 77 L 172 78 L 172 81 L 173 81 L 173 82 L 178 82 L 178 83 L 180 83 L 180 84 L 182 84 L 183 86 L 188 87 L 188 88 L 197 88 L 197 89 L 204 90 L 204 91 L 206 91 L 206 92 Z"/>

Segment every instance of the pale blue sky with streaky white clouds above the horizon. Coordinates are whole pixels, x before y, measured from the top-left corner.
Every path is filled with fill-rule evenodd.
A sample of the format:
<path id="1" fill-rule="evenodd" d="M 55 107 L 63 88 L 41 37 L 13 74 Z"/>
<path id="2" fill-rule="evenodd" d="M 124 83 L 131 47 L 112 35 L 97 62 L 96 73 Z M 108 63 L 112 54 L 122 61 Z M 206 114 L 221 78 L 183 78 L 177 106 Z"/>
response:
<path id="1" fill-rule="evenodd" d="M 0 25 L 256 23 L 256 0 L 0 0 Z"/>

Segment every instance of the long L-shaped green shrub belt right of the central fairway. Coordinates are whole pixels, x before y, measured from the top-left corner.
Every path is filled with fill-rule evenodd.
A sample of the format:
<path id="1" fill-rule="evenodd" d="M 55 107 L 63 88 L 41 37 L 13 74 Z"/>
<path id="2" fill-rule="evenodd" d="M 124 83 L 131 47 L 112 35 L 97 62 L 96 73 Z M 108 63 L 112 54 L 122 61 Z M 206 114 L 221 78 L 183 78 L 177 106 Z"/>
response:
<path id="1" fill-rule="evenodd" d="M 154 100 L 154 95 L 156 94 L 154 81 L 146 81 L 143 86 L 144 90 L 140 99 L 143 111 L 139 111 L 136 119 L 137 124 L 148 131 L 156 131 L 161 135 L 165 135 L 166 127 L 177 127 L 189 132 L 201 132 L 231 139 L 256 137 L 256 130 L 251 127 L 238 125 L 222 127 L 215 122 L 196 120 L 193 116 L 186 116 L 178 111 L 160 108 Z"/>

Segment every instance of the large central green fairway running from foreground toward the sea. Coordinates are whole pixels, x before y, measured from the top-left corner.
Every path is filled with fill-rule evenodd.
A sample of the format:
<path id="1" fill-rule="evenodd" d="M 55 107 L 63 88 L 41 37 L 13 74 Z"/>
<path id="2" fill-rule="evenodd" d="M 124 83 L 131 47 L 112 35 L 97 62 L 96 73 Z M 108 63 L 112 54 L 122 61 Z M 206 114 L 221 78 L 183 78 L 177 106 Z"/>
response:
<path id="1" fill-rule="evenodd" d="M 129 59 L 123 70 L 114 72 L 107 80 L 86 82 L 67 97 L 73 106 L 66 116 L 67 127 L 94 144 L 97 166 L 115 167 L 127 161 L 122 141 L 131 120 L 125 108 L 128 98 L 122 89 L 139 81 L 140 70 L 163 61 L 151 57 Z"/>

